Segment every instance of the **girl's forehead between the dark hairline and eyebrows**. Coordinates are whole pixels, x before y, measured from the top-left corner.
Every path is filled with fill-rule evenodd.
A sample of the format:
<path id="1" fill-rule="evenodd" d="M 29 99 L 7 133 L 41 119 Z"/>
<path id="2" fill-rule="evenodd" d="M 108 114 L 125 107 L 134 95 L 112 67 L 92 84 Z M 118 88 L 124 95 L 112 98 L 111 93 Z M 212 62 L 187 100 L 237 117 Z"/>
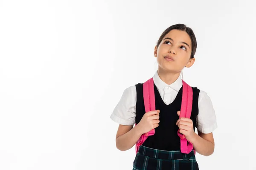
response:
<path id="1" fill-rule="evenodd" d="M 173 29 L 171 31 L 169 31 L 168 34 L 166 34 L 163 39 L 165 38 L 172 38 L 172 40 L 174 40 L 175 42 L 186 42 L 191 46 L 191 39 L 189 37 L 189 34 L 186 33 L 186 31 L 180 31 L 177 29 Z"/>

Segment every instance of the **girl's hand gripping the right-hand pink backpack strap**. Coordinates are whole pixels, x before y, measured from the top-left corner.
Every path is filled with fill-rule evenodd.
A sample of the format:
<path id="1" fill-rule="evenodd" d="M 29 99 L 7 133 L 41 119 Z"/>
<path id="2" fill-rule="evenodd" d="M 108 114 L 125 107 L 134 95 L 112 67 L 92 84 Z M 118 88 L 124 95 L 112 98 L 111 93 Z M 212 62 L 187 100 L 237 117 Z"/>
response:
<path id="1" fill-rule="evenodd" d="M 180 111 L 177 111 L 177 114 L 180 116 Z M 193 121 L 189 118 L 182 117 L 177 120 L 176 125 L 180 129 L 180 133 L 185 135 L 186 139 L 191 142 L 196 135 L 193 127 Z"/>

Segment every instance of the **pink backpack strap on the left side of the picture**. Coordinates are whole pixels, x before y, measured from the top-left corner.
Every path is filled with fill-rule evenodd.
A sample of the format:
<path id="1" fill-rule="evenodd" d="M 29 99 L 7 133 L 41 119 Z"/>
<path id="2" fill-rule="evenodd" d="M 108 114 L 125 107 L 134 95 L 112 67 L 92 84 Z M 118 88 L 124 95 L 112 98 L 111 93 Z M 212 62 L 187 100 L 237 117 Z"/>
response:
<path id="1" fill-rule="evenodd" d="M 145 106 L 145 113 L 149 111 L 155 110 L 155 96 L 154 96 L 154 80 L 153 78 L 148 79 L 146 82 L 143 83 L 143 100 Z M 135 124 L 136 125 L 136 124 Z M 148 136 L 154 135 L 155 130 L 152 129 L 149 132 L 140 136 L 140 139 L 136 143 L 136 154 L 139 150 L 140 145 L 145 142 Z"/>

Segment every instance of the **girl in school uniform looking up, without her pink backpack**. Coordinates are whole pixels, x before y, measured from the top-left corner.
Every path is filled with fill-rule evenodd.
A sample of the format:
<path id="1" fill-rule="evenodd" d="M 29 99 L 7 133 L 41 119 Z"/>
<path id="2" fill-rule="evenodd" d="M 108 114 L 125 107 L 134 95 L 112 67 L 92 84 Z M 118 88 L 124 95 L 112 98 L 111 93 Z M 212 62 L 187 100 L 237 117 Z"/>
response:
<path id="1" fill-rule="evenodd" d="M 138 83 L 125 89 L 111 114 L 111 119 L 119 124 L 116 147 L 121 151 L 131 149 L 140 136 L 155 130 L 154 135 L 148 136 L 140 146 L 133 170 L 199 170 L 193 150 L 181 153 L 178 130 L 193 144 L 197 153 L 204 156 L 213 153 L 212 132 L 217 123 L 207 93 L 192 87 L 190 119 L 179 119 L 183 91 L 180 73 L 184 67 L 190 68 L 194 64 L 196 48 L 191 28 L 183 24 L 167 28 L 154 48 L 158 62 L 158 70 L 153 76 L 156 110 L 145 113 L 143 84 Z"/>

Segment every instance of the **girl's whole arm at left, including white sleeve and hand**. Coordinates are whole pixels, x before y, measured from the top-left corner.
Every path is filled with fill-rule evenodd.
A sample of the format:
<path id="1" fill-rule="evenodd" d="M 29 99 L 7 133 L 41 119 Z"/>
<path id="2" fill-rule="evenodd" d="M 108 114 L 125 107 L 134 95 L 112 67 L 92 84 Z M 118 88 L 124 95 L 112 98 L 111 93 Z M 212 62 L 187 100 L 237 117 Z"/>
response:
<path id="1" fill-rule="evenodd" d="M 125 89 L 120 101 L 111 114 L 111 119 L 119 124 L 116 133 L 116 147 L 121 151 L 131 149 L 143 133 L 156 128 L 159 123 L 160 111 L 150 111 L 145 113 L 140 122 L 134 126 L 136 100 L 137 92 L 134 85 Z"/>

